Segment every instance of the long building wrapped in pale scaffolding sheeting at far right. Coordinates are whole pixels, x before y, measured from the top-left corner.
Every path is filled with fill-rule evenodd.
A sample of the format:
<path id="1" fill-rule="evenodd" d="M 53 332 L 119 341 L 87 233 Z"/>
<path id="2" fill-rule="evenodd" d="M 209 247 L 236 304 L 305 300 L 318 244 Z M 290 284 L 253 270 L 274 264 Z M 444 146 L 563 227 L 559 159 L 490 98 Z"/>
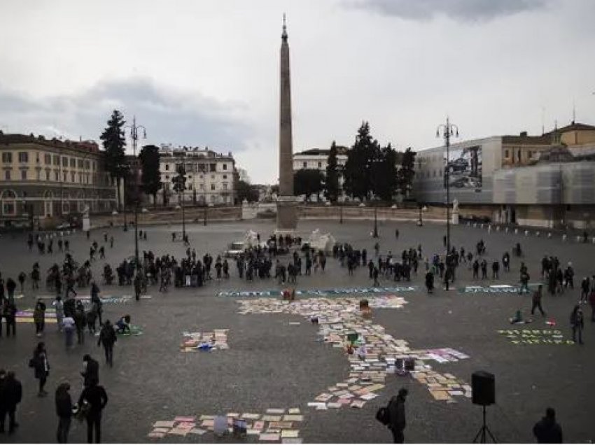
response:
<path id="1" fill-rule="evenodd" d="M 578 144 L 574 144 L 578 142 Z M 461 216 L 541 227 L 595 227 L 595 127 L 573 122 L 541 136 L 493 136 L 422 150 L 414 193 Z M 595 222 L 595 221 L 594 221 Z"/>

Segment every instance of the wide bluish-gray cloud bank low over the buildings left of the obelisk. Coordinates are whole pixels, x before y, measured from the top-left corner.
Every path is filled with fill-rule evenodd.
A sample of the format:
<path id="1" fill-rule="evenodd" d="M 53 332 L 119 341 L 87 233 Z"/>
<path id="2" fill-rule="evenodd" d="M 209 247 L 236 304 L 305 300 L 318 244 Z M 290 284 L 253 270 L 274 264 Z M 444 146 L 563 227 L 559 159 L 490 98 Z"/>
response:
<path id="1" fill-rule="evenodd" d="M 99 141 L 114 108 L 128 123 L 134 113 L 146 127 L 148 138 L 139 145 L 171 142 L 240 152 L 252 136 L 236 117 L 244 111 L 238 104 L 175 92 L 146 78 L 109 80 L 79 94 L 44 99 L 0 88 L 0 129 Z"/>

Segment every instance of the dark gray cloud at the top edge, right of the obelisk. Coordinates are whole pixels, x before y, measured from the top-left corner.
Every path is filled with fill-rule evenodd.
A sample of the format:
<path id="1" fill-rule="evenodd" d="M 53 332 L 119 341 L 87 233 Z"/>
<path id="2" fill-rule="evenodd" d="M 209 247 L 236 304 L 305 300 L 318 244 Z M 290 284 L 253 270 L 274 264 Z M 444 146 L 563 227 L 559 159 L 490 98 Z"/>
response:
<path id="1" fill-rule="evenodd" d="M 431 20 L 446 15 L 454 20 L 485 22 L 543 8 L 547 0 L 363 0 L 351 3 L 407 20 Z"/>

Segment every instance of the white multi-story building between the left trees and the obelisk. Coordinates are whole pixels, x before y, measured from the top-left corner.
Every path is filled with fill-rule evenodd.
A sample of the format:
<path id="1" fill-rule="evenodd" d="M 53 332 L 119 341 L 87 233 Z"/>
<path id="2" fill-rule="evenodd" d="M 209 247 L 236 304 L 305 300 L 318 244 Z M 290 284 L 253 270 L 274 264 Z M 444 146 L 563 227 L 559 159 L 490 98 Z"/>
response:
<path id="1" fill-rule="evenodd" d="M 176 166 L 186 169 L 186 189 L 174 191 Z M 160 150 L 160 174 L 163 183 L 158 204 L 220 205 L 235 204 L 237 171 L 231 153 L 223 155 L 208 148 L 174 148 L 164 144 Z"/>

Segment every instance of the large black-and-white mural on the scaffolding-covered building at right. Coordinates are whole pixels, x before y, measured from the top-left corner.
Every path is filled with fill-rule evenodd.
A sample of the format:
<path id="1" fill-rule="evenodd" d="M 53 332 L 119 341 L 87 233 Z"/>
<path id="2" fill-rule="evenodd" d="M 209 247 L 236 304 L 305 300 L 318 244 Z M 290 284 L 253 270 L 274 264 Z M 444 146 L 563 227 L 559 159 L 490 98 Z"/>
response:
<path id="1" fill-rule="evenodd" d="M 482 146 L 451 148 L 444 151 L 444 187 L 451 190 L 482 191 Z"/>

